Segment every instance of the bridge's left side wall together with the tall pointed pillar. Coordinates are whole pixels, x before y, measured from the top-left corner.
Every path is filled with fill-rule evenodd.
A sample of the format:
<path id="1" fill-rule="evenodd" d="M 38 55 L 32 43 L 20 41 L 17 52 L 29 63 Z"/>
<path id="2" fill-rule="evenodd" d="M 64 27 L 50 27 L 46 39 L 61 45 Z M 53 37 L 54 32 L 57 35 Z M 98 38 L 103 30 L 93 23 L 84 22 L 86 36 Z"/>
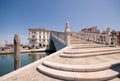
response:
<path id="1" fill-rule="evenodd" d="M 63 47 L 70 45 L 69 22 L 67 21 L 65 24 L 65 32 L 51 31 L 50 39 L 51 39 L 51 41 L 54 42 L 54 46 L 52 46 L 52 47 L 55 47 L 56 50 L 60 50 Z M 53 48 L 53 49 L 55 49 L 55 48 Z"/>

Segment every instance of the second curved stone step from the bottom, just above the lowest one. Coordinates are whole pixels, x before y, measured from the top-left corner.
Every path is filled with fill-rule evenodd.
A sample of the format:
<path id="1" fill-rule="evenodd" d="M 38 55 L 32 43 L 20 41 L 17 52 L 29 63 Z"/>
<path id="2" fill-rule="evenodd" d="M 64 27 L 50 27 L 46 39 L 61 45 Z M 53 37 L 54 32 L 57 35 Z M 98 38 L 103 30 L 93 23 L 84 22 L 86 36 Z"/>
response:
<path id="1" fill-rule="evenodd" d="M 94 72 L 94 71 L 101 71 L 106 70 L 112 67 L 112 65 L 120 63 L 120 60 L 112 61 L 112 62 L 105 62 L 100 64 L 91 64 L 91 65 L 70 65 L 70 64 L 61 64 L 55 63 L 51 61 L 44 61 L 42 64 L 58 70 L 63 71 L 73 71 L 73 72 Z"/>

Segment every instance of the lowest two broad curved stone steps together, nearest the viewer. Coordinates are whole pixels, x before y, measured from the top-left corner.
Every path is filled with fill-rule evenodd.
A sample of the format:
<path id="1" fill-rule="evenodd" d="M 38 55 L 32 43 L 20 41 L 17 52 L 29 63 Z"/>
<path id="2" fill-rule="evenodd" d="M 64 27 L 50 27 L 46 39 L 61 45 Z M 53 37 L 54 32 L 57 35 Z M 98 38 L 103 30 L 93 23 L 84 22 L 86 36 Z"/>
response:
<path id="1" fill-rule="evenodd" d="M 71 67 L 70 67 L 71 66 Z M 88 67 L 88 68 L 86 68 Z M 49 61 L 38 66 L 38 71 L 53 78 L 67 81 L 108 81 L 116 78 L 119 72 L 110 69 L 109 63 L 104 65 L 62 65 Z M 120 68 L 119 68 L 120 69 Z M 119 81 L 120 79 L 118 79 Z M 112 81 L 112 80 L 111 80 Z"/>

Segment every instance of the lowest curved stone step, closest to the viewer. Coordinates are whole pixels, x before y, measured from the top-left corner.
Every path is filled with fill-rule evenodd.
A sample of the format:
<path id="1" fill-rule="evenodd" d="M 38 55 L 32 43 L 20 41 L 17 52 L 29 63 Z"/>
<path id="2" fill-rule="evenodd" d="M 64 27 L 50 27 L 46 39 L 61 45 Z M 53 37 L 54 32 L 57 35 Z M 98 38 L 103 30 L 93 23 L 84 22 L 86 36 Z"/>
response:
<path id="1" fill-rule="evenodd" d="M 111 69 L 98 72 L 69 72 L 48 68 L 43 65 L 37 66 L 37 69 L 48 76 L 68 81 L 104 81 L 119 75 L 119 72 Z"/>

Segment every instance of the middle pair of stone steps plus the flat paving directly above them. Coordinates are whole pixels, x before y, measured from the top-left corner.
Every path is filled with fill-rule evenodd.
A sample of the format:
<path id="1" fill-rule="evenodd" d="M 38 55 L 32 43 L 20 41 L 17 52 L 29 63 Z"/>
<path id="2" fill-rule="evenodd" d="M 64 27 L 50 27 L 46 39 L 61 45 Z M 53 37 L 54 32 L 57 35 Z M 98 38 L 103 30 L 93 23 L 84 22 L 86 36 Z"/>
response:
<path id="1" fill-rule="evenodd" d="M 72 46 L 71 46 L 72 48 Z M 104 47 L 103 48 L 83 48 L 83 49 L 69 49 L 60 54 L 64 58 L 83 58 L 99 55 L 120 54 L 120 48 L 117 47 Z M 85 49 L 85 50 L 84 50 Z"/>

